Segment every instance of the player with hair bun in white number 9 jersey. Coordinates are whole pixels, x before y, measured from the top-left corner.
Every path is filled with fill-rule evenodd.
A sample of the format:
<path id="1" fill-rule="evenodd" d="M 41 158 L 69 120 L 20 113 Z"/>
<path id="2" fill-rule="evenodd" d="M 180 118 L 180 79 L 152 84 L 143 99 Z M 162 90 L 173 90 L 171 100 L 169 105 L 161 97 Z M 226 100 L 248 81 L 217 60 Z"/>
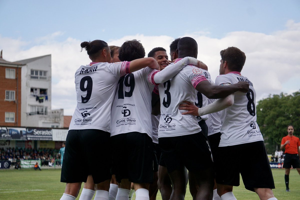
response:
<path id="1" fill-rule="evenodd" d="M 108 151 L 112 91 L 116 90 L 121 76 L 146 66 L 155 69 L 159 66 L 154 58 L 110 64 L 110 48 L 102 40 L 82 42 L 81 47 L 87 50 L 92 62 L 80 66 L 75 73 L 77 106 L 66 139 L 61 182 L 67 184 L 61 199 L 76 199 L 81 183 L 88 177 L 97 187 L 95 199 L 108 199 L 112 161 Z M 102 152 L 101 159 L 94 159 L 95 152 Z M 84 159 L 84 167 L 78 165 L 78 157 Z"/>

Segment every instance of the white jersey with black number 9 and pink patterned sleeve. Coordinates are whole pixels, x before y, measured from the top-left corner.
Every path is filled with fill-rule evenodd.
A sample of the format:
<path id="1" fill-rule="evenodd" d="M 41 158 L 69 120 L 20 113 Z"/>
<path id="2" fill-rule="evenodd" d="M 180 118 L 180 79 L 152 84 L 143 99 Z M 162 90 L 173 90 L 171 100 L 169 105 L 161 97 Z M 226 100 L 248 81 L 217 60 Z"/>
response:
<path id="1" fill-rule="evenodd" d="M 110 112 L 118 80 L 129 72 L 130 62 L 91 63 L 75 73 L 77 106 L 71 129 L 110 132 Z"/>

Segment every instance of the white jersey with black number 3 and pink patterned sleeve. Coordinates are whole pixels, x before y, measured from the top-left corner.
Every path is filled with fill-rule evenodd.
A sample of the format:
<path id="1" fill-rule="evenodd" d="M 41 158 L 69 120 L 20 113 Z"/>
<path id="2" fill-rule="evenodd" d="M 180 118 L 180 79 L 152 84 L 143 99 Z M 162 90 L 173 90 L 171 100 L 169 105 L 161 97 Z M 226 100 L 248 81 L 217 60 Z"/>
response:
<path id="1" fill-rule="evenodd" d="M 201 131 L 196 116 L 182 115 L 184 111 L 179 110 L 179 104 L 183 101 L 195 102 L 195 87 L 201 81 L 206 81 L 203 71 L 198 67 L 186 65 L 176 76 L 158 86 L 161 101 L 158 138 L 183 136 Z"/>

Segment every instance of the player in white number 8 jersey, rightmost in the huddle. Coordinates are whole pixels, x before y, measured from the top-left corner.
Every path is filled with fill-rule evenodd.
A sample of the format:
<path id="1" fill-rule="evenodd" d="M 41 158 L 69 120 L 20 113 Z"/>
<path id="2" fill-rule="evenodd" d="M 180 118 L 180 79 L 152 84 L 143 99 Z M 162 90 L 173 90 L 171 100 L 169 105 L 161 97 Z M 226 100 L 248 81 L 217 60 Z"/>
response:
<path id="1" fill-rule="evenodd" d="M 183 106 L 189 110 L 183 114 L 196 115 L 221 111 L 221 139 L 218 147 L 217 193 L 221 200 L 235 199 L 233 186 L 239 185 L 240 174 L 245 188 L 256 192 L 261 200 L 276 200 L 273 195 L 274 180 L 265 150 L 262 134 L 256 123 L 256 92 L 253 83 L 241 75 L 246 56 L 236 47 L 228 47 L 220 52 L 220 76 L 216 85 L 232 85 L 239 81 L 247 81 L 249 90 L 246 94 L 235 92 L 214 103 L 195 109 L 195 106 Z M 249 154 L 249 152 L 251 152 Z M 251 166 L 244 159 L 247 154 Z M 231 163 L 230 166 L 224 163 Z"/>

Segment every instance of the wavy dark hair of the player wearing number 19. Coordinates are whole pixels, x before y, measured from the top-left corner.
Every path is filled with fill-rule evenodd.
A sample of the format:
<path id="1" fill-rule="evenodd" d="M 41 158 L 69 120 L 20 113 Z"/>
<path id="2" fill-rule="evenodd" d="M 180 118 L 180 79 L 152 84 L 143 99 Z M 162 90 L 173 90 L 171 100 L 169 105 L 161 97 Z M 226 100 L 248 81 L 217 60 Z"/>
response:
<path id="1" fill-rule="evenodd" d="M 120 61 L 133 61 L 138 58 L 144 58 L 145 55 L 145 49 L 142 43 L 137 40 L 126 41 L 119 49 Z"/>

